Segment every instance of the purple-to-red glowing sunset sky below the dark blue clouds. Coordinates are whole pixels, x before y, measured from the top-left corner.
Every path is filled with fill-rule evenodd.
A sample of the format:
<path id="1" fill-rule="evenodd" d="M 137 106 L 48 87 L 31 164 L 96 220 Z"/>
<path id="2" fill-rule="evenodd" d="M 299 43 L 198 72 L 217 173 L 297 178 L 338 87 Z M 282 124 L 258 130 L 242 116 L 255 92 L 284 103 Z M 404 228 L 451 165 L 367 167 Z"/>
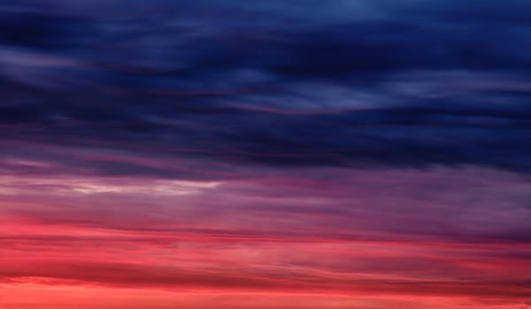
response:
<path id="1" fill-rule="evenodd" d="M 0 304 L 62 309 L 525 303 L 531 245 L 481 237 L 499 220 L 489 212 L 500 207 L 496 199 L 505 198 L 507 187 L 528 192 L 519 177 L 489 170 L 318 174 L 328 176 L 216 182 L 3 177 Z M 450 179 L 465 184 L 467 194 L 450 190 Z M 444 188 L 433 192 L 436 198 L 423 193 L 434 185 Z M 383 188 L 385 195 L 374 194 Z M 472 190 L 496 194 L 468 201 Z M 404 213 L 385 210 L 397 202 Z M 470 214 L 449 221 L 445 214 L 464 202 Z M 505 216 L 519 224 L 518 214 L 507 209 Z M 446 229 L 450 223 L 454 230 Z M 498 228 L 503 224 L 499 220 Z"/>

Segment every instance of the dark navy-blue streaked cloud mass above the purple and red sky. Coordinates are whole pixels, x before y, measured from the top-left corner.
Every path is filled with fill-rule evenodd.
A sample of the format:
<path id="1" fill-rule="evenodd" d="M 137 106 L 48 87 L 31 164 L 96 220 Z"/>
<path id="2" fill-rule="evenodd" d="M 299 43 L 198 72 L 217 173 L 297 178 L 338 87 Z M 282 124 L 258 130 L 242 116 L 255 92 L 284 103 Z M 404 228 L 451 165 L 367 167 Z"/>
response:
<path id="1" fill-rule="evenodd" d="M 212 172 L 448 164 L 527 173 L 529 11 L 516 0 L 4 1 L 4 157 L 53 161 L 26 149 L 56 145 L 73 169 L 161 177 L 194 169 L 109 168 L 68 149 L 199 161 Z"/>

